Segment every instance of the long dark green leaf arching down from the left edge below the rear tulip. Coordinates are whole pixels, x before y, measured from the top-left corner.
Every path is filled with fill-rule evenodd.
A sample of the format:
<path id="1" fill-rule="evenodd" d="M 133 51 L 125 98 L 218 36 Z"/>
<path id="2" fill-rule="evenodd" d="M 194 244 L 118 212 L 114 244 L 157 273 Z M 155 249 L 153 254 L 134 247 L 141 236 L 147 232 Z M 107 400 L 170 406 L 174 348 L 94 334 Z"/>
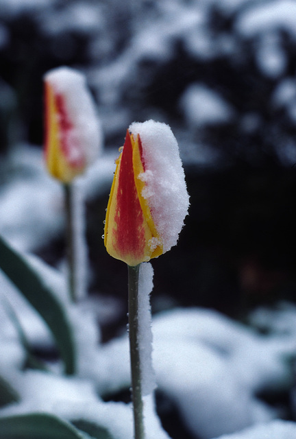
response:
<path id="1" fill-rule="evenodd" d="M 53 334 L 66 374 L 75 372 L 75 347 L 66 313 L 40 274 L 0 237 L 0 268 L 45 320 Z"/>

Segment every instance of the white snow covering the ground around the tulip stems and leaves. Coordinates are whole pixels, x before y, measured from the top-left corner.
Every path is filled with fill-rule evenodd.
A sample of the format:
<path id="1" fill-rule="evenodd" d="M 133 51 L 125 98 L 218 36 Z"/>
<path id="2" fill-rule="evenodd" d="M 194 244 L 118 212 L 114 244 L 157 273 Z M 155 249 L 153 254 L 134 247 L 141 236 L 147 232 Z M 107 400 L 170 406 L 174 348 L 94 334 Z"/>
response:
<path id="1" fill-rule="evenodd" d="M 58 273 L 42 265 L 40 268 L 61 292 L 63 280 Z M 52 340 L 38 315 L 12 285 L 4 279 L 1 285 L 1 294 L 14 307 L 29 340 L 50 346 Z M 107 427 L 115 439 L 130 438 L 130 405 L 101 399 L 104 394 L 130 387 L 127 335 L 102 345 L 93 303 L 73 306 L 64 299 L 64 306 L 77 343 L 75 377 L 62 376 L 56 366 L 51 373 L 22 371 L 23 349 L 5 307 L 1 308 L 0 375 L 16 388 L 21 400 L 3 407 L 0 415 L 47 412 L 67 420 L 83 418 Z M 254 319 L 262 320 L 264 315 L 266 318 L 266 311 L 258 311 Z M 288 435 L 296 432 L 296 425 L 275 421 L 281 416 L 280 410 L 256 396 L 262 390 L 286 389 L 293 378 L 287 360 L 296 348 L 296 308 L 283 305 L 274 311 L 273 319 L 274 333 L 260 335 L 206 309 L 174 309 L 153 318 L 153 366 L 158 390 L 175 403 L 193 437 L 218 438 L 236 431 L 227 438 L 260 439 L 262 434 L 266 438 L 293 438 Z M 150 397 L 145 397 L 145 405 L 147 438 L 167 437 Z M 258 427 L 246 429 L 252 425 Z"/>

